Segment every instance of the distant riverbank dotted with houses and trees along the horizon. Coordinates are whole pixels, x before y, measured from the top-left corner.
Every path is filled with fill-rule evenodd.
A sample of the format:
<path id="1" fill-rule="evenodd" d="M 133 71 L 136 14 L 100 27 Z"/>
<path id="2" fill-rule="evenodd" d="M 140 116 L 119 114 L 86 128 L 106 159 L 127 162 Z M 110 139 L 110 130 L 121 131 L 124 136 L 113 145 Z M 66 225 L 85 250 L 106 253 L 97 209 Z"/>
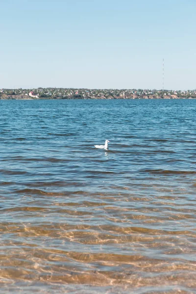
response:
<path id="1" fill-rule="evenodd" d="M 196 90 L 143 89 L 1 89 L 0 99 L 194 99 Z"/>

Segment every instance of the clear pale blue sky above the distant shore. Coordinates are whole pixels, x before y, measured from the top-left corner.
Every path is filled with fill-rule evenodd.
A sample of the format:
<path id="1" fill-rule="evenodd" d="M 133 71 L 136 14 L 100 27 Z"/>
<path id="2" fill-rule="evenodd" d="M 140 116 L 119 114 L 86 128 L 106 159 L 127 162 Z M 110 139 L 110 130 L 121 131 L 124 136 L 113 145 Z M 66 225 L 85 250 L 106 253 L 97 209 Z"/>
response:
<path id="1" fill-rule="evenodd" d="M 0 0 L 0 88 L 196 89 L 196 0 Z"/>

